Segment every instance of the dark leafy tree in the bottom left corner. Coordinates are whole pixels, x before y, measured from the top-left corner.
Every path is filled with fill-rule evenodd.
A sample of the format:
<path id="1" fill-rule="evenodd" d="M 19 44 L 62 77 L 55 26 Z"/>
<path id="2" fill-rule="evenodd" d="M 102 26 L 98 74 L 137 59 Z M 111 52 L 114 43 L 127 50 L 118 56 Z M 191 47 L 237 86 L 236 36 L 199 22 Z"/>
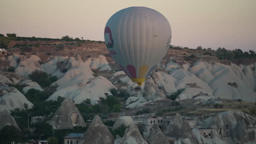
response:
<path id="1" fill-rule="evenodd" d="M 21 142 L 21 131 L 13 125 L 7 125 L 0 130 L 0 144 L 11 143 L 11 141 Z"/>

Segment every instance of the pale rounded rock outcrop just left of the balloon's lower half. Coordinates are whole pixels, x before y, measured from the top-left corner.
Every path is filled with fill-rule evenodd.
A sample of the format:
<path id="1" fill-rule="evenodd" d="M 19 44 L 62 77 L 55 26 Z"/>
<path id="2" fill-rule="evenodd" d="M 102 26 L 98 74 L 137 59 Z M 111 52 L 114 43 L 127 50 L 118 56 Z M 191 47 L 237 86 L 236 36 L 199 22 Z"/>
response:
<path id="1" fill-rule="evenodd" d="M 90 65 L 91 69 L 98 69 L 100 71 L 111 70 L 106 57 L 102 55 L 98 56 L 98 58 L 89 58 L 85 63 Z"/>

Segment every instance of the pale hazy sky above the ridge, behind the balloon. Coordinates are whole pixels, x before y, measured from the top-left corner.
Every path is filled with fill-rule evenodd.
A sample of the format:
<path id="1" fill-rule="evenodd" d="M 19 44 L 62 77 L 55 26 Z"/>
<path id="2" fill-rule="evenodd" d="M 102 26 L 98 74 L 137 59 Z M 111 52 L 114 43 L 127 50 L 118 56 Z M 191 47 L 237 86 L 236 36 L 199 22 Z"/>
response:
<path id="1" fill-rule="evenodd" d="M 256 51 L 256 0 L 0 0 L 0 33 L 104 40 L 109 17 L 135 6 L 167 18 L 172 45 Z"/>

